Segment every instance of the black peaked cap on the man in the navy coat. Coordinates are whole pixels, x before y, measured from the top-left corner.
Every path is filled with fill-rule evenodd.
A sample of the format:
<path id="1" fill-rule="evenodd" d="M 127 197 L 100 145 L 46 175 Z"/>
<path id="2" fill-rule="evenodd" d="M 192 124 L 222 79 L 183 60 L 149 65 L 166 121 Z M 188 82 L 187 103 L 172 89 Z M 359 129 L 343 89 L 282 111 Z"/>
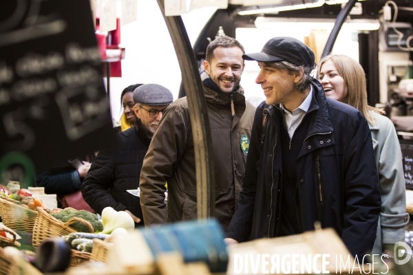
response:
<path id="1" fill-rule="evenodd" d="M 286 61 L 296 66 L 315 67 L 314 52 L 301 41 L 287 36 L 270 39 L 261 52 L 243 54 L 242 58 L 262 62 Z"/>

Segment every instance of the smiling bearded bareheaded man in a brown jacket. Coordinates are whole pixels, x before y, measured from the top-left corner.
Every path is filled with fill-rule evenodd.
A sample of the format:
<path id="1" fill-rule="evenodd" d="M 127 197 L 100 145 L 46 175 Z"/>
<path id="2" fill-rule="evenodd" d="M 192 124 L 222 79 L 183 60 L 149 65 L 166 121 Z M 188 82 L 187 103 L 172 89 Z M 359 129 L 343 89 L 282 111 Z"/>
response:
<path id="1" fill-rule="evenodd" d="M 255 113 L 240 87 L 243 53 L 235 39 L 215 39 L 201 74 L 215 162 L 215 217 L 224 230 L 240 198 Z M 145 225 L 196 219 L 195 153 L 186 97 L 170 105 L 153 135 L 140 173 L 140 205 Z"/>

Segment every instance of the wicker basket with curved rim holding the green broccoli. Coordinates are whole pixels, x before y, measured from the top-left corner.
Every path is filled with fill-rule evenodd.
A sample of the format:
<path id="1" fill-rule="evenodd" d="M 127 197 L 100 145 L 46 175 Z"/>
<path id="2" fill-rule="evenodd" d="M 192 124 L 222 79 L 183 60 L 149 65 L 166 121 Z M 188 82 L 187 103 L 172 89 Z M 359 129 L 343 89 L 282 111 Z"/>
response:
<path id="1" fill-rule="evenodd" d="M 46 239 L 52 238 L 54 236 L 65 236 L 70 233 L 76 232 L 76 230 L 70 227 L 70 225 L 75 221 L 80 221 L 81 223 L 87 225 L 90 232 L 94 232 L 93 227 L 89 223 L 89 221 L 75 217 L 63 223 L 63 221 L 59 221 L 58 219 L 54 218 L 51 214 L 45 212 L 45 210 L 41 208 L 37 209 L 39 211 L 39 214 L 37 215 L 36 223 L 34 223 L 32 238 L 32 245 L 34 246 L 34 248 L 39 247 L 39 245 L 41 245 L 41 243 L 43 243 L 43 241 L 45 241 Z"/>

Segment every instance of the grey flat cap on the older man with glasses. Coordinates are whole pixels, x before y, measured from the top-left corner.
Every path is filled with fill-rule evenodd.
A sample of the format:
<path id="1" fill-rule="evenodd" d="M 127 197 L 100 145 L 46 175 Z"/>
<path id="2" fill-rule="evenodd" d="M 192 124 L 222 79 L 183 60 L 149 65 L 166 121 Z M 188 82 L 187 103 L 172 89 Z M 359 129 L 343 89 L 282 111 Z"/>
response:
<path id="1" fill-rule="evenodd" d="M 134 102 L 149 106 L 169 105 L 173 96 L 169 89 L 158 84 L 145 84 L 134 90 Z"/>

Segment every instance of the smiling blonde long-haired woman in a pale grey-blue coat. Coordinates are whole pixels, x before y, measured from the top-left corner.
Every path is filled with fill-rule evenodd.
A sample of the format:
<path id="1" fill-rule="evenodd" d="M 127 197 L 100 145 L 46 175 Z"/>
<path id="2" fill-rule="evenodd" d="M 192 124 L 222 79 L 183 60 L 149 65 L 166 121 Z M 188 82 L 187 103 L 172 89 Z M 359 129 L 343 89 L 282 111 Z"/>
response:
<path id="1" fill-rule="evenodd" d="M 379 109 L 368 106 L 366 76 L 354 59 L 344 55 L 326 56 L 319 63 L 319 80 L 326 96 L 358 109 L 368 121 L 381 191 L 381 213 L 372 254 L 381 254 L 384 244 L 404 241 L 405 225 L 409 221 L 396 130 Z"/>

